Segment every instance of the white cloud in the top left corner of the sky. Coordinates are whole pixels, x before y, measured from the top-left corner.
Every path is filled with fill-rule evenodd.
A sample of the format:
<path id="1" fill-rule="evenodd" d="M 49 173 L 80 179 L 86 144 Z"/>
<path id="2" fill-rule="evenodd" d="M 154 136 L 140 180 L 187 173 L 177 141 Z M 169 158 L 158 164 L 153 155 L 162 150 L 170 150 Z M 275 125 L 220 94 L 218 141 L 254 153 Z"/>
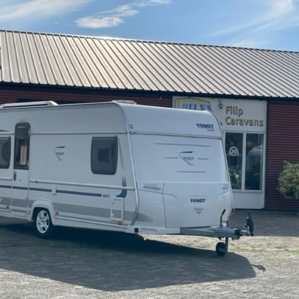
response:
<path id="1" fill-rule="evenodd" d="M 91 1 L 92 0 L 29 0 L 22 2 L 14 1 L 14 3 L 12 2 L 8 5 L 6 4 L 8 1 L 0 1 L 0 22 L 59 15 L 74 11 Z"/>

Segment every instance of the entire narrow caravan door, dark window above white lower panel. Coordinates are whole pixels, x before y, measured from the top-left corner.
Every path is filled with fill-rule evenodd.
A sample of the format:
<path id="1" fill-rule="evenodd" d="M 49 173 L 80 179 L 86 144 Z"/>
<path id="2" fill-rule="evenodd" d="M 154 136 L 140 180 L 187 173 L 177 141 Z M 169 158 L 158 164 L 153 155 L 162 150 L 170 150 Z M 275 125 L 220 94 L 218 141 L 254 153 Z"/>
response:
<path id="1" fill-rule="evenodd" d="M 15 126 L 14 159 L 12 179 L 12 214 L 18 217 L 27 215 L 28 169 L 30 125 L 18 123 Z"/>

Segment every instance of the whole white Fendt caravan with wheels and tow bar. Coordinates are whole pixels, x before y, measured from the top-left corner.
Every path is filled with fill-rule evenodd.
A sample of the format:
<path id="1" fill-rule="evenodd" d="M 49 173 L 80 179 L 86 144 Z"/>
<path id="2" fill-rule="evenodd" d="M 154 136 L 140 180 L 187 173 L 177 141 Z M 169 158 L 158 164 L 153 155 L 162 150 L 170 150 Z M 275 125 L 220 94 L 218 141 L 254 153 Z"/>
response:
<path id="1" fill-rule="evenodd" d="M 116 101 L 0 106 L 0 216 L 53 226 L 225 238 L 232 190 L 210 112 Z"/>

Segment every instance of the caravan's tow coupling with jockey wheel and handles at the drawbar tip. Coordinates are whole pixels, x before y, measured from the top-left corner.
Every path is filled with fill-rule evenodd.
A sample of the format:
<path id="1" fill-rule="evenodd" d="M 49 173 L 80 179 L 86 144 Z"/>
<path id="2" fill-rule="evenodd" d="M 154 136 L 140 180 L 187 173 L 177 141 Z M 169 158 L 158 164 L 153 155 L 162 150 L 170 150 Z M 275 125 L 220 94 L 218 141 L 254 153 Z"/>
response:
<path id="1" fill-rule="evenodd" d="M 248 216 L 246 218 L 245 230 L 240 228 L 231 228 L 228 221 L 225 221 L 226 225 L 224 226 L 222 216 L 224 215 L 225 211 L 226 210 L 224 209 L 220 215 L 219 229 L 215 230 L 219 234 L 217 237 L 220 240 L 225 238 L 225 243 L 218 242 L 216 245 L 216 253 L 218 256 L 224 256 L 228 252 L 229 238 L 232 238 L 232 240 L 238 240 L 241 236 L 254 236 L 254 224 L 249 211 L 247 211 Z"/>

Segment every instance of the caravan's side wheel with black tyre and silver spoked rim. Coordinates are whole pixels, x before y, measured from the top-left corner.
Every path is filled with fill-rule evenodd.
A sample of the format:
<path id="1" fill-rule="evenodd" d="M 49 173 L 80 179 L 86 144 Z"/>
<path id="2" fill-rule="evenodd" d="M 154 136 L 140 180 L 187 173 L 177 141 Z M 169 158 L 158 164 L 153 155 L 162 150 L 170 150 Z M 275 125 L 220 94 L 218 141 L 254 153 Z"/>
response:
<path id="1" fill-rule="evenodd" d="M 33 219 L 35 234 L 39 238 L 50 239 L 53 236 L 54 227 L 49 211 L 47 209 L 36 209 Z"/>

